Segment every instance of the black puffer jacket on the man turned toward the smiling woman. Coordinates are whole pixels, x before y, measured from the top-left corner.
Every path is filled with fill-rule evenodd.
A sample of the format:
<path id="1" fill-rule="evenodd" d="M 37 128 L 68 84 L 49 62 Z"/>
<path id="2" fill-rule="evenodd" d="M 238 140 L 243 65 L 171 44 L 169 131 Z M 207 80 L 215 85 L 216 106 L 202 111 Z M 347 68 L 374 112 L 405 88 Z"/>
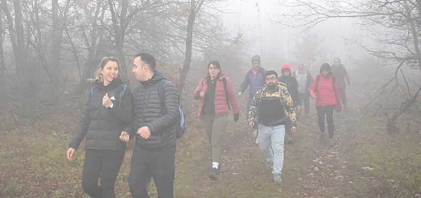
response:
<path id="1" fill-rule="evenodd" d="M 165 112 L 161 107 L 158 95 L 159 81 L 165 77 L 156 72 L 148 81 L 141 82 L 133 91 L 134 97 L 134 129 L 136 146 L 147 150 L 161 150 L 175 145 L 175 123 L 178 115 L 178 94 L 170 81 L 162 87 L 165 97 Z M 151 137 L 144 139 L 136 132 L 140 127 L 148 126 Z"/>

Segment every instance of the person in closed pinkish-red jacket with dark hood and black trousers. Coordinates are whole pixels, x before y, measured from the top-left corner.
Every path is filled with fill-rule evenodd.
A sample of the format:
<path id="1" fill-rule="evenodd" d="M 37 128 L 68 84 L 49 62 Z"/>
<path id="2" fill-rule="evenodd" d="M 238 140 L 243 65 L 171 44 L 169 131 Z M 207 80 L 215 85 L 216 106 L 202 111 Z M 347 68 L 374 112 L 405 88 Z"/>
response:
<path id="1" fill-rule="evenodd" d="M 329 146 L 333 146 L 333 110 L 340 112 L 342 108 L 341 95 L 339 94 L 338 81 L 333 77 L 330 65 L 323 63 L 320 66 L 320 74 L 313 80 L 310 95 L 316 99 L 316 110 L 320 137 L 324 141 L 324 116 L 327 120 L 327 131 L 329 133 Z"/>

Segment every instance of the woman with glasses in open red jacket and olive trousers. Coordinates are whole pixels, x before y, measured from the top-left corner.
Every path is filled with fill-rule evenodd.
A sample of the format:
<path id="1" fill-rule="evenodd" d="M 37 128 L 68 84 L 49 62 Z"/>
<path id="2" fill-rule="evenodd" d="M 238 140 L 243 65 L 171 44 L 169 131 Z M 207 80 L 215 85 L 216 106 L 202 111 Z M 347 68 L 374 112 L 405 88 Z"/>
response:
<path id="1" fill-rule="evenodd" d="M 212 60 L 208 64 L 208 76 L 199 81 L 193 92 L 193 99 L 200 100 L 198 116 L 202 119 L 203 128 L 211 143 L 212 168 L 209 178 L 217 180 L 221 168 L 221 142 L 228 114 L 232 107 L 234 121 L 237 121 L 239 112 L 234 88 L 228 77 L 222 74 L 218 61 Z"/>

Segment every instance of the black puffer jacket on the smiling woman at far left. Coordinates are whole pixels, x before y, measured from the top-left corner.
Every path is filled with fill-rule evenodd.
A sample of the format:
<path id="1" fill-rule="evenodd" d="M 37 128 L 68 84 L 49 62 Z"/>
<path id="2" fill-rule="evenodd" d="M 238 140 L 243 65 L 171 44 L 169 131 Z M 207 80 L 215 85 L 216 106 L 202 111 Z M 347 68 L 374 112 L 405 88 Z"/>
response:
<path id="1" fill-rule="evenodd" d="M 119 107 L 121 81 L 114 79 L 109 85 L 95 83 L 89 90 L 89 99 L 85 104 L 79 126 L 69 144 L 71 148 L 78 148 L 83 138 L 86 139 L 85 149 L 125 150 L 127 144 L 121 142 L 119 137 L 122 131 L 130 134 L 133 122 L 133 94 L 126 87 L 121 96 Z M 92 95 L 91 95 L 92 92 Z M 107 109 L 103 105 L 103 96 L 113 102 L 113 107 Z M 113 100 L 114 99 L 114 100 Z"/>

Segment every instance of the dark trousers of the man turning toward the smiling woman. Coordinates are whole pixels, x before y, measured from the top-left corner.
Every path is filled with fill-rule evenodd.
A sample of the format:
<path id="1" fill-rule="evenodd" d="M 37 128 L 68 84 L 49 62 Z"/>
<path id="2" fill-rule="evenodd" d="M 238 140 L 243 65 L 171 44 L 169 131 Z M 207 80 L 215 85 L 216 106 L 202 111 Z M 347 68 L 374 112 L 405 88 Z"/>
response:
<path id="1" fill-rule="evenodd" d="M 135 146 L 128 179 L 133 198 L 149 198 L 147 187 L 151 178 L 154 178 L 158 198 L 174 197 L 175 150 L 175 145 L 163 150 Z"/>

